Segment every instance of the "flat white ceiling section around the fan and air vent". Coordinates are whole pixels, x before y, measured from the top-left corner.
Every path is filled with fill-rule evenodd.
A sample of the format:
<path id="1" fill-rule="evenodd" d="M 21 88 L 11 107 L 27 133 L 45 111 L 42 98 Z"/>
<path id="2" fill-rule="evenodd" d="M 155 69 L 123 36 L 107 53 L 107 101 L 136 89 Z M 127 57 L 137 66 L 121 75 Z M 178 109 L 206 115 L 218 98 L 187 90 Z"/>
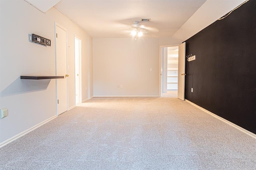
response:
<path id="1" fill-rule="evenodd" d="M 54 7 L 93 38 L 128 38 L 141 18 L 144 37 L 171 37 L 206 0 L 61 0 Z"/>

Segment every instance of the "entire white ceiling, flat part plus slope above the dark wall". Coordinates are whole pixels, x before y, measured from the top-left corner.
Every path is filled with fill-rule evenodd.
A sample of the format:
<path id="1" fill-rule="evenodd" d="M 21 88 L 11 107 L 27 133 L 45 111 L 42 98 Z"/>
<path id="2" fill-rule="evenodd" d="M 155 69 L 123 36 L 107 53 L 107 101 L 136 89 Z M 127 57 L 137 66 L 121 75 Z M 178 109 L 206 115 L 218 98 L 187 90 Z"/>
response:
<path id="1" fill-rule="evenodd" d="M 26 0 L 28 1 L 28 0 Z M 37 2 L 38 0 L 29 0 Z M 44 4 L 49 0 L 40 0 Z M 131 24 L 143 37 L 186 40 L 244 0 L 54 0 L 54 8 L 92 38 L 130 38 Z M 140 22 L 150 18 L 150 22 Z M 140 29 L 140 28 L 139 28 Z"/>

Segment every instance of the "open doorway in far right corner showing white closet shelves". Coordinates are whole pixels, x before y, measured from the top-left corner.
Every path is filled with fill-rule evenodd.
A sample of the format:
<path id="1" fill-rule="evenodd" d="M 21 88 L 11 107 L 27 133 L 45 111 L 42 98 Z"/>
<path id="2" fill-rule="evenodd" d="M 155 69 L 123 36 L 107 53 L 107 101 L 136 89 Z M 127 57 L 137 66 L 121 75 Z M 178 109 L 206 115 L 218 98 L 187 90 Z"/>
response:
<path id="1" fill-rule="evenodd" d="M 177 45 L 161 47 L 161 96 L 178 93 L 178 50 Z"/>

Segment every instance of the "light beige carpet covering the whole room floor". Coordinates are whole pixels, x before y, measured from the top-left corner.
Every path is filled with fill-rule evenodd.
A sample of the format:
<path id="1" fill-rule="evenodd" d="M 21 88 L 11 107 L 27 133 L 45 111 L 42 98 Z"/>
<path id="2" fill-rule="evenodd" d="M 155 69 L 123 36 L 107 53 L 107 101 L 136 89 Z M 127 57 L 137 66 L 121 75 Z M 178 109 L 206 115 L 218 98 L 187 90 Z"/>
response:
<path id="1" fill-rule="evenodd" d="M 0 169 L 256 169 L 254 138 L 174 97 L 92 98 L 0 148 Z"/>

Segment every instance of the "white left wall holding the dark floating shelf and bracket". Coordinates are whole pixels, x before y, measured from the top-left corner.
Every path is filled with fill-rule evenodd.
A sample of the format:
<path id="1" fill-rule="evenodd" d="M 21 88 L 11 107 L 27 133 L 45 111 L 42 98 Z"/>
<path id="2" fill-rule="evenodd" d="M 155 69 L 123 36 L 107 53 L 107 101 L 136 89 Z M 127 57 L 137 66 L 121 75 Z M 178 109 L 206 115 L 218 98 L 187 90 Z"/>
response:
<path id="1" fill-rule="evenodd" d="M 68 106 L 75 105 L 74 34 L 82 38 L 82 99 L 93 95 L 92 38 L 55 8 L 46 14 L 23 0 L 0 1 L 0 145 L 56 115 L 56 81 L 20 80 L 20 75 L 55 75 L 54 22 L 68 30 Z M 29 42 L 29 34 L 51 47 Z M 87 90 L 85 90 L 87 87 Z"/>

